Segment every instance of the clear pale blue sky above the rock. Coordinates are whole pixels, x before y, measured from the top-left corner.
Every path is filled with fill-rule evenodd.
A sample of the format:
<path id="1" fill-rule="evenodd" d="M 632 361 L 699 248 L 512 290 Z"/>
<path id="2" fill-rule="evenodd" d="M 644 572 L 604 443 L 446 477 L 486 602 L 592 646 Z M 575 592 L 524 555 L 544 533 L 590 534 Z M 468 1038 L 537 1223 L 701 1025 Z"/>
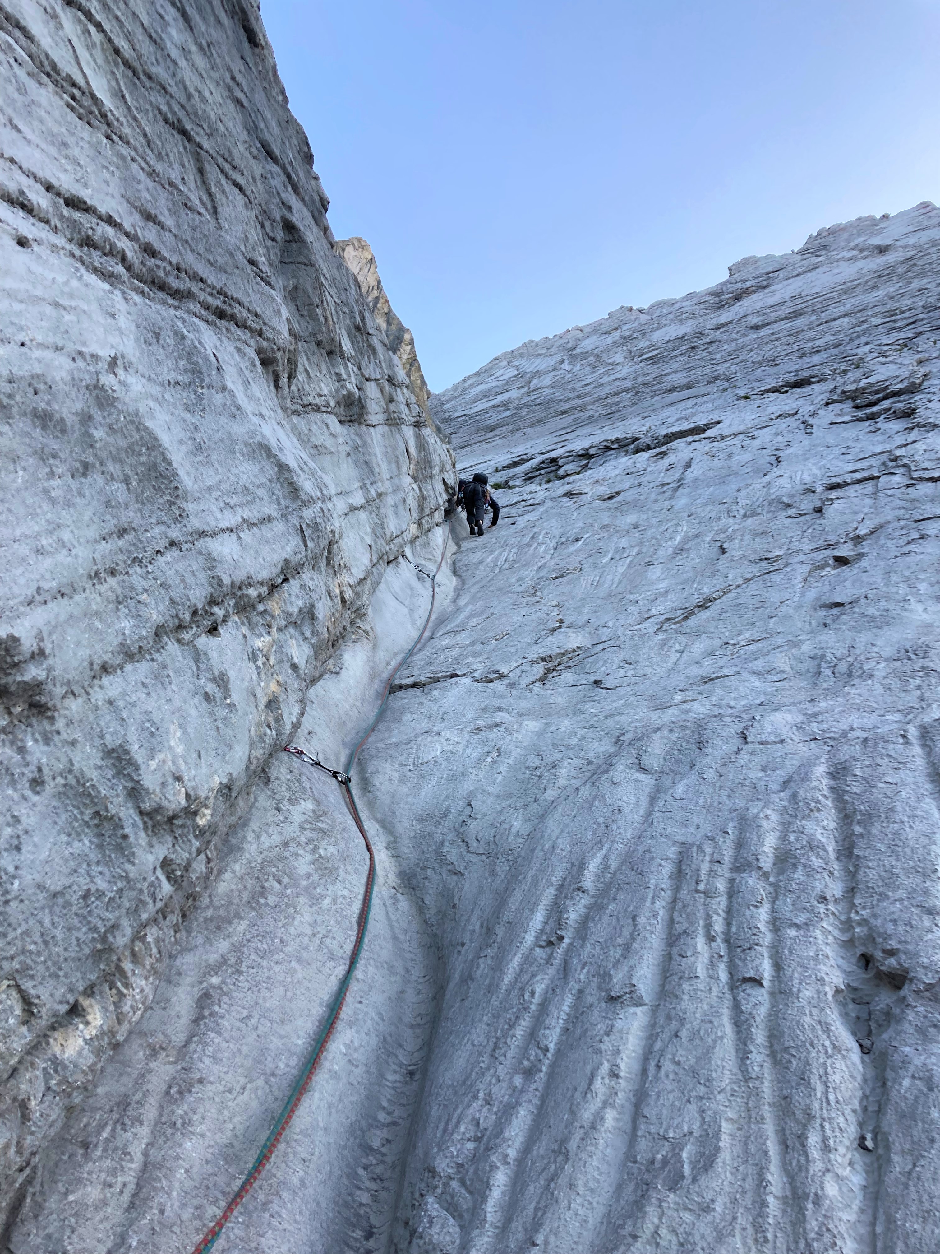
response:
<path id="1" fill-rule="evenodd" d="M 432 390 L 940 202 L 940 0 L 262 0 Z"/>

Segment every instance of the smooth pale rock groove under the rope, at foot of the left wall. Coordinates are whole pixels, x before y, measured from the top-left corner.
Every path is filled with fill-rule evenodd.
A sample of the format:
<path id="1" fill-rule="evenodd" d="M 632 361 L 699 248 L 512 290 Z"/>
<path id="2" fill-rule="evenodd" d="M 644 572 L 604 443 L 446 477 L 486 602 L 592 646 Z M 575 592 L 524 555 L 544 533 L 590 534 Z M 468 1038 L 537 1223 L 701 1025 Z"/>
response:
<path id="1" fill-rule="evenodd" d="M 342 767 L 420 631 L 441 535 L 397 559 L 316 685 L 296 742 Z M 407 558 L 407 559 L 406 559 Z M 441 606 L 449 571 L 440 581 Z M 417 1104 L 437 981 L 420 912 L 368 816 L 367 943 L 313 1086 L 221 1241 L 380 1249 Z M 8 1235 L 20 1250 L 192 1249 L 247 1174 L 345 974 L 367 855 L 338 786 L 279 754 L 219 851 L 157 994 L 70 1112 Z M 103 1201 L 103 1191 L 107 1201 Z"/>

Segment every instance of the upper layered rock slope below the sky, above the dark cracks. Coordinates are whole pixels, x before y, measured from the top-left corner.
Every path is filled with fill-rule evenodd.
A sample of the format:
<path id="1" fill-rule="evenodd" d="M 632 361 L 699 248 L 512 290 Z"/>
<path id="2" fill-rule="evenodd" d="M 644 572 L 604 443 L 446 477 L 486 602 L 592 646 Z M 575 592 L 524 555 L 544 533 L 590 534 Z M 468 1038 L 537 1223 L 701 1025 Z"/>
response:
<path id="1" fill-rule="evenodd" d="M 822 229 L 792 253 L 744 257 L 714 287 L 503 352 L 431 409 L 513 480 L 565 478 L 692 435 L 734 389 L 738 404 L 787 396 L 849 406 L 860 421 L 910 418 L 930 377 L 936 228 L 924 202 Z"/>

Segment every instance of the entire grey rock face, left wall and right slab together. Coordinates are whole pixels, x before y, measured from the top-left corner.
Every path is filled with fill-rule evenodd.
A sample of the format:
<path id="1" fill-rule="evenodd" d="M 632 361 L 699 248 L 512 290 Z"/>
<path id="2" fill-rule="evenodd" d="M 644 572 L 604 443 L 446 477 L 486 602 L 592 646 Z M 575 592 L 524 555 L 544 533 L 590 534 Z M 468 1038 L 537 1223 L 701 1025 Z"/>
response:
<path id="1" fill-rule="evenodd" d="M 1 14 L 4 1240 L 165 1254 L 342 977 L 361 841 L 274 751 L 368 722 L 451 466 L 256 10 Z M 504 513 L 217 1249 L 935 1250 L 937 278 L 921 204 L 434 398 Z"/>

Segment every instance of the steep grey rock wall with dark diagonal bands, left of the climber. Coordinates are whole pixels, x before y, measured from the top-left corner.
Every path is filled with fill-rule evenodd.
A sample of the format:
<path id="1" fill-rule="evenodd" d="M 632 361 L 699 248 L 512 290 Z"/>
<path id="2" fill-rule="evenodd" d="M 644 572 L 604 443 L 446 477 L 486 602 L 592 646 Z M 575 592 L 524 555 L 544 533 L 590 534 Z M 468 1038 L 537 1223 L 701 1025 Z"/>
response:
<path id="1" fill-rule="evenodd" d="M 257 4 L 10 0 L 0 30 L 9 1204 L 452 470 Z"/>

